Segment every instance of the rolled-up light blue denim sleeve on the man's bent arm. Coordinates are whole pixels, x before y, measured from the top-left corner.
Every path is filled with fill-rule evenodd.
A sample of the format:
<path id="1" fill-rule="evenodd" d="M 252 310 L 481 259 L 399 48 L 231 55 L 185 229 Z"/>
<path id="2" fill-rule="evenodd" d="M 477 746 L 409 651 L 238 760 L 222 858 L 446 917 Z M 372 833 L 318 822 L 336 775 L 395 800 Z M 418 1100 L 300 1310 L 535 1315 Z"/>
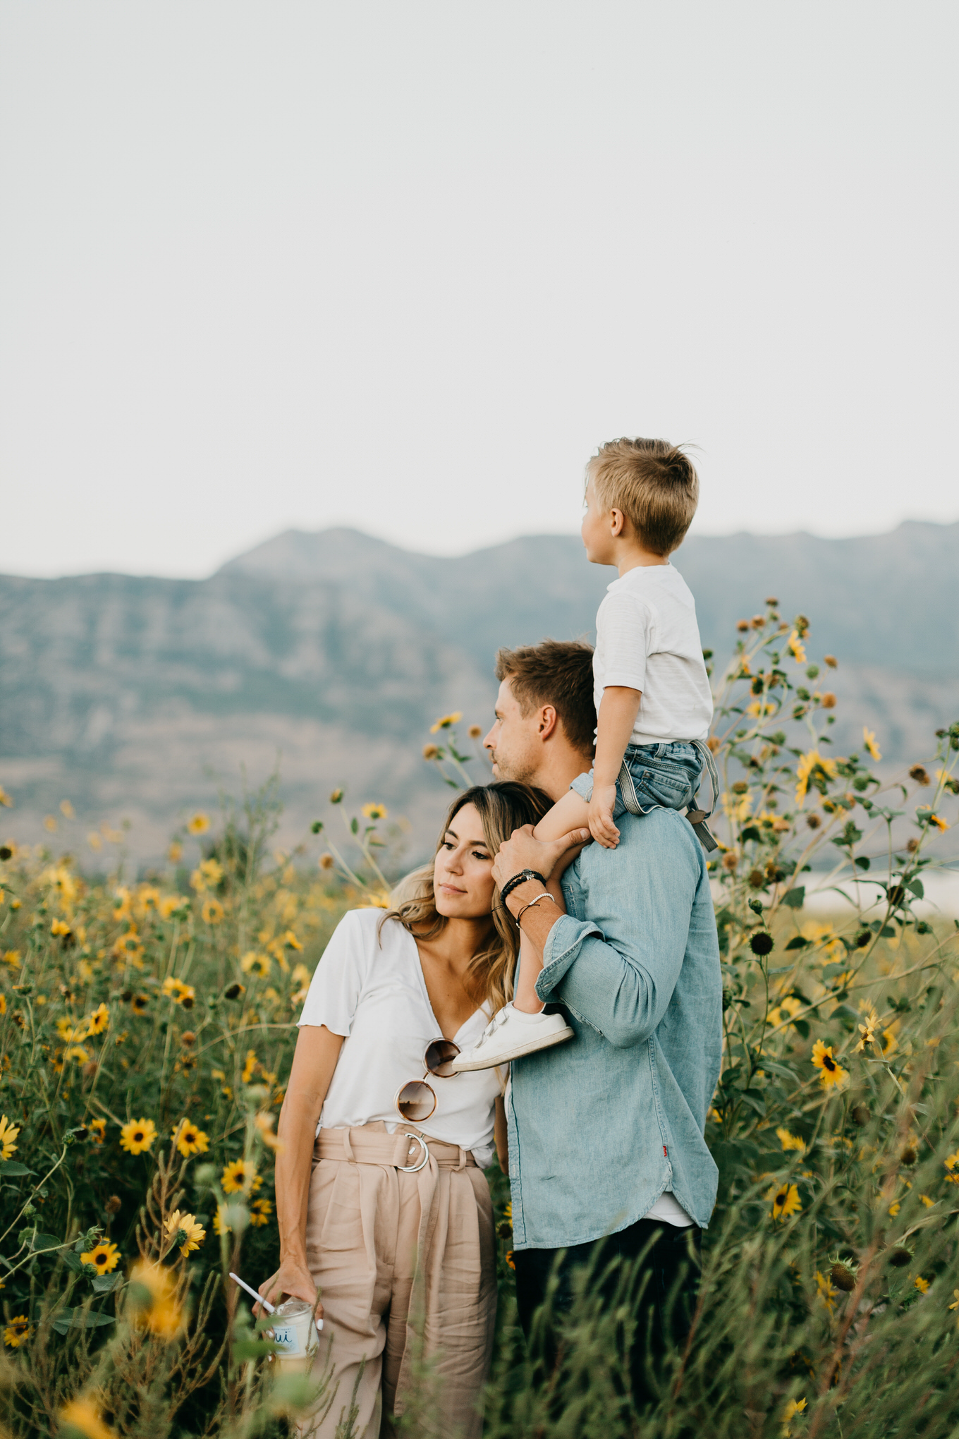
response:
<path id="1" fill-rule="evenodd" d="M 648 1039 L 669 1007 L 700 882 L 690 826 L 674 812 L 659 813 L 654 845 L 624 816 L 615 849 L 589 845 L 579 856 L 569 908 L 591 918 L 574 912 L 556 921 L 536 981 L 543 1003 L 565 1004 L 618 1049 Z"/>

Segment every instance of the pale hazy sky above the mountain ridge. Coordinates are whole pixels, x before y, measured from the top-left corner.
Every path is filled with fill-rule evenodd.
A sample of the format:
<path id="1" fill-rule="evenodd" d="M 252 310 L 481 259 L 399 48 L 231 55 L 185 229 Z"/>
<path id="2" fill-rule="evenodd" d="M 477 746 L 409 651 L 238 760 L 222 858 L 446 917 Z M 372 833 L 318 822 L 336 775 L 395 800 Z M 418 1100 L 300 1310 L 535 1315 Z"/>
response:
<path id="1" fill-rule="evenodd" d="M 955 4 L 0 0 L 0 570 L 955 519 Z"/>

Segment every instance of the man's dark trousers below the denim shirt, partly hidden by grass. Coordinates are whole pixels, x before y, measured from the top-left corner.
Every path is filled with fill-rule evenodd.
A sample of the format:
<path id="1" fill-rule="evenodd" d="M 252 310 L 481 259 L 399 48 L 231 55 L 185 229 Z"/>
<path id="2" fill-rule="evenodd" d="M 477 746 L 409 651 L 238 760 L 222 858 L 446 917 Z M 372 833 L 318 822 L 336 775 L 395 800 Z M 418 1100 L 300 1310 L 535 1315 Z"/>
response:
<path id="1" fill-rule="evenodd" d="M 647 1364 L 659 1368 L 670 1348 L 682 1348 L 696 1307 L 699 1284 L 700 1230 L 690 1225 L 674 1225 L 638 1219 L 627 1229 L 585 1245 L 568 1249 L 518 1249 L 516 1305 L 519 1322 L 529 1340 L 533 1315 L 546 1297 L 549 1278 L 556 1266 L 558 1285 L 552 1295 L 552 1311 L 568 1314 L 575 1302 L 572 1276 L 577 1269 L 592 1268 L 597 1276 L 591 1292 L 598 1288 L 612 1302 L 618 1297 L 635 1304 L 635 1331 L 628 1356 L 633 1403 L 643 1409 L 654 1402 L 647 1379 Z M 614 1263 L 614 1261 L 620 1263 Z M 630 1294 L 623 1295 L 623 1269 L 630 1269 Z M 546 1327 L 541 1353 L 536 1356 L 552 1373 L 558 1343 L 552 1325 Z"/>

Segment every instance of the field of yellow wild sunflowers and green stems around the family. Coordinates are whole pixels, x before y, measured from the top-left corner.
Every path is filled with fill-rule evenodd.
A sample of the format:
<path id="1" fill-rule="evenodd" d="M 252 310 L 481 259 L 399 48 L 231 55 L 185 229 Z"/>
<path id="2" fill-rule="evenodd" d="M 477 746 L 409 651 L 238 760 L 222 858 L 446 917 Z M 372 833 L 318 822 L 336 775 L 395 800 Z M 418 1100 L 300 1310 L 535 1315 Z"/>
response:
<path id="1" fill-rule="evenodd" d="M 587 1276 L 565 1361 L 533 1383 L 490 1171 L 496 1439 L 959 1433 L 959 922 L 927 894 L 958 817 L 959 722 L 901 774 L 877 768 L 868 730 L 835 754 L 837 661 L 808 658 L 808 629 L 769 600 L 715 673 L 720 1191 L 689 1344 L 637 1419 L 634 1317 L 602 1312 Z M 477 767 L 460 720 L 424 748 L 454 786 Z M 93 836 L 101 865 L 118 856 L 98 873 L 0 848 L 6 1435 L 280 1435 L 322 1392 L 277 1371 L 229 1274 L 256 1286 L 276 1266 L 299 1004 L 339 915 L 384 904 L 395 869 L 384 807 L 329 802 L 344 843 L 316 820 L 292 855 L 270 849 L 275 784 L 194 814 L 147 875 L 121 832 Z M 403 1433 L 439 1436 L 434 1386 L 424 1356 Z"/>

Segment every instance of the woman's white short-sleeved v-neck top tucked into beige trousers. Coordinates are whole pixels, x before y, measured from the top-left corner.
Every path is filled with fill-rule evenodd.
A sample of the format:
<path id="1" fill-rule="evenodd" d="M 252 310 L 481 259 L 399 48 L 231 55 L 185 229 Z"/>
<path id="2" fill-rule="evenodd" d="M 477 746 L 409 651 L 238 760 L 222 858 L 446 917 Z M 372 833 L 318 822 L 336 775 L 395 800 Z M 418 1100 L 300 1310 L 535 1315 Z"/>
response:
<path id="1" fill-rule="evenodd" d="M 416 940 L 397 920 L 380 931 L 382 909 L 351 909 L 334 930 L 316 966 L 299 1016 L 344 1035 L 344 1046 L 319 1115 L 319 1130 L 345 1130 L 382 1120 L 393 1134 L 404 1121 L 397 1092 L 410 1079 L 433 1088 L 437 1105 L 417 1128 L 434 1140 L 460 1144 L 486 1168 L 493 1161 L 493 1104 L 500 1092 L 495 1069 L 440 1079 L 426 1073 L 427 1045 L 443 1038 L 427 994 Z M 380 931 L 380 932 L 378 932 Z M 477 1009 L 454 1035 L 469 1049 L 489 1023 Z"/>

